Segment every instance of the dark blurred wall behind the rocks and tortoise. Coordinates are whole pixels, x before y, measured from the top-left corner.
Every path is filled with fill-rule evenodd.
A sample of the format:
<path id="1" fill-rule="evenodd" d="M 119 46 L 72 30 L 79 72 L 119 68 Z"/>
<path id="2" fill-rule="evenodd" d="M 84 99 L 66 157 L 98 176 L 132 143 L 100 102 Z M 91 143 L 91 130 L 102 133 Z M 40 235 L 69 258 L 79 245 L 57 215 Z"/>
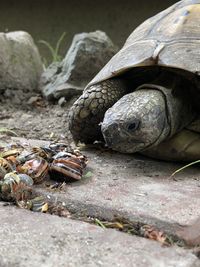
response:
<path id="1" fill-rule="evenodd" d="M 25 30 L 38 45 L 42 57 L 50 53 L 39 40 L 52 47 L 66 32 L 60 47 L 60 55 L 67 52 L 74 34 L 105 31 L 112 41 L 121 47 L 133 31 L 145 19 L 176 3 L 174 0 L 1 0 L 0 31 Z"/>

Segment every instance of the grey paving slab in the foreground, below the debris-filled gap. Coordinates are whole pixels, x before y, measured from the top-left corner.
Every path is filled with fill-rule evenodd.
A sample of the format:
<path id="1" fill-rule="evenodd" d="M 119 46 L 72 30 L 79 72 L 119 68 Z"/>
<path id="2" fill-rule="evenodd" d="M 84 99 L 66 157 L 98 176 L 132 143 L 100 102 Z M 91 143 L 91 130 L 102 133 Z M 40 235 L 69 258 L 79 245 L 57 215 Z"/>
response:
<path id="1" fill-rule="evenodd" d="M 0 203 L 0 266 L 197 267 L 182 248 Z"/>

